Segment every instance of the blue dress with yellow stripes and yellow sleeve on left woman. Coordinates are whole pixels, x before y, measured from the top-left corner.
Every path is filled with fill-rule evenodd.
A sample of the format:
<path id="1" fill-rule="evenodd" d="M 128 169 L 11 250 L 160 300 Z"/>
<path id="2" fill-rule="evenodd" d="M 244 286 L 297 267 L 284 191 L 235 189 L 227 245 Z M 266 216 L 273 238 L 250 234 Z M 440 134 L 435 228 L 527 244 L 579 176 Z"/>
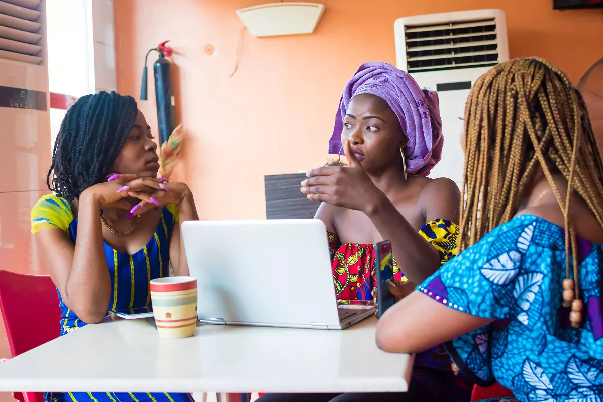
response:
<path id="1" fill-rule="evenodd" d="M 120 253 L 103 243 L 107 266 L 111 278 L 111 298 L 107 306 L 107 315 L 116 309 L 149 306 L 151 303 L 149 281 L 169 276 L 169 239 L 178 222 L 178 209 L 170 204 L 163 208 L 157 230 L 147 244 L 137 253 Z M 58 228 L 69 233 L 75 244 L 77 238 L 77 218 L 74 218 L 69 203 L 56 195 L 43 196 L 31 210 L 31 233 Z M 71 310 L 58 292 L 61 307 L 61 333 L 63 336 L 86 322 Z M 115 392 L 90 393 L 68 392 L 65 394 L 48 393 L 44 395 L 49 402 L 191 402 L 187 394 L 119 394 Z"/>

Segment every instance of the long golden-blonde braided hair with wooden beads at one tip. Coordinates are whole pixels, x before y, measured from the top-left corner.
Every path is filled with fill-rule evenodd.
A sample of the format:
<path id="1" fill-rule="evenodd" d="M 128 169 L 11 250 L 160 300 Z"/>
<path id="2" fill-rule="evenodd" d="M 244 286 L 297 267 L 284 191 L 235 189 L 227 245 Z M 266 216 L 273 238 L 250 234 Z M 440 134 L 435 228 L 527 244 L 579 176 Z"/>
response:
<path id="1" fill-rule="evenodd" d="M 578 90 L 544 60 L 521 58 L 499 64 L 482 75 L 469 94 L 465 142 L 459 249 L 516 215 L 534 169 L 540 166 L 563 211 L 566 277 L 571 250 L 578 298 L 576 240 L 569 221 L 573 190 L 603 227 L 603 165 Z M 565 199 L 551 168 L 567 180 Z"/>

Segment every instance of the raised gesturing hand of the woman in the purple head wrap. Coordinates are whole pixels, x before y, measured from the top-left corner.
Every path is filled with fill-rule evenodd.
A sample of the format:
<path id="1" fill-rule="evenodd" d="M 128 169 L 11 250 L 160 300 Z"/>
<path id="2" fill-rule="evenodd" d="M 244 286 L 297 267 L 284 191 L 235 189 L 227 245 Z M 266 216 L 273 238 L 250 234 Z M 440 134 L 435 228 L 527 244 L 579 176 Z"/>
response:
<path id="1" fill-rule="evenodd" d="M 301 192 L 311 201 L 367 212 L 385 194 L 374 185 L 356 155 L 350 141 L 345 145 L 349 168 L 327 166 L 309 171 L 301 182 Z"/>

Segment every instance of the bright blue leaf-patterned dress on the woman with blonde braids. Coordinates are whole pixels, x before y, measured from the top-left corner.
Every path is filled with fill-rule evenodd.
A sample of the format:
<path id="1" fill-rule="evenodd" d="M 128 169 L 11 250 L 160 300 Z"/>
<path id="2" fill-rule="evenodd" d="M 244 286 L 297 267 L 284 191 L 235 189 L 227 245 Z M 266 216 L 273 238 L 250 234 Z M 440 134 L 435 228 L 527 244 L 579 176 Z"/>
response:
<path id="1" fill-rule="evenodd" d="M 446 345 L 478 385 L 497 381 L 520 401 L 603 402 L 603 245 L 578 238 L 584 323 L 572 328 L 561 306 L 564 234 L 545 219 L 518 216 L 417 287 L 451 309 L 496 319 Z"/>

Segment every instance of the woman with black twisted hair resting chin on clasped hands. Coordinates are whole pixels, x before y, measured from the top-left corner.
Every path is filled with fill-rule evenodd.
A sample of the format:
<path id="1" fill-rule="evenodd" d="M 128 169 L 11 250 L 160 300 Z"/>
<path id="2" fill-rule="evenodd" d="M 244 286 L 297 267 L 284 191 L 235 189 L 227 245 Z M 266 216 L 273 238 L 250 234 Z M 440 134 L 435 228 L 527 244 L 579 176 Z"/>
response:
<path id="1" fill-rule="evenodd" d="M 62 309 L 61 335 L 116 309 L 150 304 L 149 281 L 188 275 L 180 224 L 197 220 L 191 190 L 157 178 L 157 145 L 130 96 L 84 96 L 67 111 L 31 211 Z M 77 238 L 77 242 L 76 242 Z M 188 394 L 48 393 L 49 402 L 191 402 Z"/>

